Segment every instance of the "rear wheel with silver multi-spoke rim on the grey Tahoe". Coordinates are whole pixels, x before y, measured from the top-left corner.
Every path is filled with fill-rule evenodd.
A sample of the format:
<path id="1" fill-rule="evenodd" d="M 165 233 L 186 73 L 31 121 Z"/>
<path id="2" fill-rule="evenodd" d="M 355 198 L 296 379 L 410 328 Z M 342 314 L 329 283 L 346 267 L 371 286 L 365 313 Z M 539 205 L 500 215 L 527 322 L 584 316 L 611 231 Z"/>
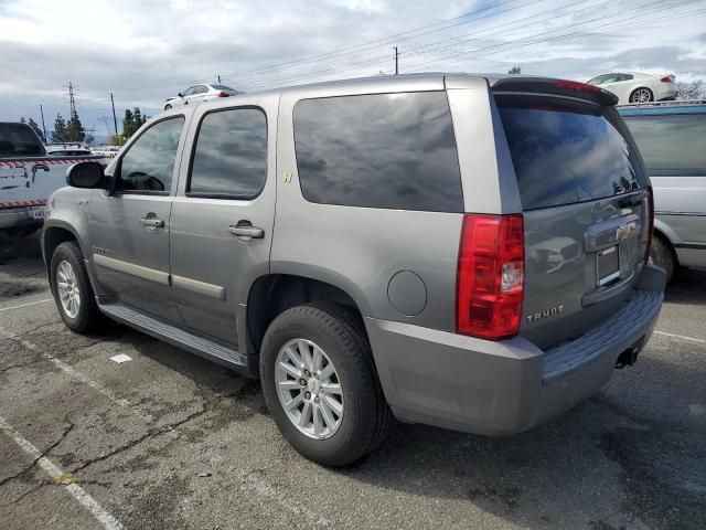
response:
<path id="1" fill-rule="evenodd" d="M 279 315 L 265 333 L 260 378 L 284 436 L 324 466 L 367 455 L 392 424 L 364 327 L 343 306 L 311 304 Z"/>

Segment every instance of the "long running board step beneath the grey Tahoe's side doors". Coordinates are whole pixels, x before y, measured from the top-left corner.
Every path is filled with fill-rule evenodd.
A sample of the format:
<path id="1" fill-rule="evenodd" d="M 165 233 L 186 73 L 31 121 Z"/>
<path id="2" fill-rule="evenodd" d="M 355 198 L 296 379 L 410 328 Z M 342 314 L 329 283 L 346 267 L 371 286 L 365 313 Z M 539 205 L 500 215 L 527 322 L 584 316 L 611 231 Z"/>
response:
<path id="1" fill-rule="evenodd" d="M 126 324 L 131 328 L 143 331 L 156 339 L 196 353 L 225 367 L 237 370 L 249 378 L 258 377 L 257 359 L 255 356 L 244 356 L 237 350 L 218 344 L 212 340 L 184 331 L 175 326 L 143 315 L 120 304 L 98 304 L 100 310 L 108 317 Z"/>

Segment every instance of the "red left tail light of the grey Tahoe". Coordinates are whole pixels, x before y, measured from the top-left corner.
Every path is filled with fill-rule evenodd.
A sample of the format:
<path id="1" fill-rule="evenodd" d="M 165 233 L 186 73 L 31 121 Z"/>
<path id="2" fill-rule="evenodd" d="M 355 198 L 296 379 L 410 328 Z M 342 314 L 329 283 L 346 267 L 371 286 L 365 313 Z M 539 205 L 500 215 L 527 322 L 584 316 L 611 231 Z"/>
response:
<path id="1" fill-rule="evenodd" d="M 457 274 L 457 331 L 491 340 L 517 335 L 524 268 L 521 214 L 464 215 Z"/>

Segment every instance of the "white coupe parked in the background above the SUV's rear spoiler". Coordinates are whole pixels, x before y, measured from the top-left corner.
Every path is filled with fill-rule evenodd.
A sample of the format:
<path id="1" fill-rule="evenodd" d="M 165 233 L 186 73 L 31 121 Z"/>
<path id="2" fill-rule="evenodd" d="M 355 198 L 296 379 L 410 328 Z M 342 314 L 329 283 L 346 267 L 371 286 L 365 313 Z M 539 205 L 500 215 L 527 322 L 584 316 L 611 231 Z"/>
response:
<path id="1" fill-rule="evenodd" d="M 673 75 L 649 75 L 638 72 L 601 74 L 587 81 L 618 96 L 618 104 L 650 103 L 674 99 L 677 94 Z"/>

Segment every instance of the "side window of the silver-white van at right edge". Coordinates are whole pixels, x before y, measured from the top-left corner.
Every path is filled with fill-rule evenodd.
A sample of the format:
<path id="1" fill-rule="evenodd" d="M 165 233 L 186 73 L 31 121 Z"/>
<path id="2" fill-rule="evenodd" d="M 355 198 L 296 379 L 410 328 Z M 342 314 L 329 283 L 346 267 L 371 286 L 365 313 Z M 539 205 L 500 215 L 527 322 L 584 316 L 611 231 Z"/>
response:
<path id="1" fill-rule="evenodd" d="M 706 174 L 706 114 L 625 118 L 650 174 Z"/>

